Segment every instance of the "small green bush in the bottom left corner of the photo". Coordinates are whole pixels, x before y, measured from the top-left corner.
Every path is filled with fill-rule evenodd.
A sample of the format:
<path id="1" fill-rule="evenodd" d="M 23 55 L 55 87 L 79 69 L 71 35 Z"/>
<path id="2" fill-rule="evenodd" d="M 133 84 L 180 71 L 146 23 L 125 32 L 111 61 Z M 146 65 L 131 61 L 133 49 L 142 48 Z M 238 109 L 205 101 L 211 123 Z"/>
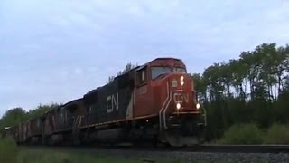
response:
<path id="1" fill-rule="evenodd" d="M 17 147 L 14 139 L 0 138 L 0 161 L 16 162 L 17 160 Z"/>

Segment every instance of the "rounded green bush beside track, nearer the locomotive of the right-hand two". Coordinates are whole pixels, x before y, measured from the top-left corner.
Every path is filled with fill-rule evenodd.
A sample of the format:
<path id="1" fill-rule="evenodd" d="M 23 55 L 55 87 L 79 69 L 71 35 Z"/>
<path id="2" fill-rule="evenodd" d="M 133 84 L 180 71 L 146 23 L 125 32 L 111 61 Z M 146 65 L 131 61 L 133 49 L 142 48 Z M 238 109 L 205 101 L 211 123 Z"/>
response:
<path id="1" fill-rule="evenodd" d="M 230 127 L 219 140 L 221 144 L 262 144 L 263 132 L 255 123 L 239 124 Z"/>

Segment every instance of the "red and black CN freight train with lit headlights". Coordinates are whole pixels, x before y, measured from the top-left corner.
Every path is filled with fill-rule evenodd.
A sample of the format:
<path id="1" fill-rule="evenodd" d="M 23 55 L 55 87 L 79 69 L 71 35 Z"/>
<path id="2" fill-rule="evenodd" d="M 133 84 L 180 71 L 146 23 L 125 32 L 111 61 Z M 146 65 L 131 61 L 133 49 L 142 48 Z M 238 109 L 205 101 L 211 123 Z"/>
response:
<path id="1" fill-rule="evenodd" d="M 206 112 L 185 64 L 156 58 L 42 116 L 5 128 L 18 144 L 198 145 Z"/>

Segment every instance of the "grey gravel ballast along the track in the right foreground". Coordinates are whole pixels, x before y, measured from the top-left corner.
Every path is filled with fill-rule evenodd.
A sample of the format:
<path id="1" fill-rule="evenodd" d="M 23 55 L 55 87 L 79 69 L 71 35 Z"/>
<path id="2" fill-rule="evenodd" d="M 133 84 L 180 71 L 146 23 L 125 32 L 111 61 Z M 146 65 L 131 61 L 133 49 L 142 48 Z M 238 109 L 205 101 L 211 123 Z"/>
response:
<path id="1" fill-rule="evenodd" d="M 122 149 L 99 149 L 99 153 L 111 156 L 170 162 L 289 162 L 288 153 L 207 153 L 178 151 L 140 151 Z"/>

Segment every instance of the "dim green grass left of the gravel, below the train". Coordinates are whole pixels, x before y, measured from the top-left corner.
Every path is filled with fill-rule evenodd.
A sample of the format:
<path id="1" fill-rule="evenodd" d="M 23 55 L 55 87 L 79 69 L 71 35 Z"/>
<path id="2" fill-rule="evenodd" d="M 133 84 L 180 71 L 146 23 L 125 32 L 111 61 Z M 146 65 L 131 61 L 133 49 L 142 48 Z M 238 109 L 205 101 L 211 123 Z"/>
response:
<path id="1" fill-rule="evenodd" d="M 109 153 L 109 152 L 107 152 Z M 144 162 L 144 158 L 125 158 L 98 153 L 96 150 L 60 149 L 43 147 L 17 147 L 13 139 L 0 138 L 1 163 L 137 163 Z M 150 156 L 147 156 L 150 158 Z M 157 162 L 181 162 L 180 160 L 154 159 Z"/>

